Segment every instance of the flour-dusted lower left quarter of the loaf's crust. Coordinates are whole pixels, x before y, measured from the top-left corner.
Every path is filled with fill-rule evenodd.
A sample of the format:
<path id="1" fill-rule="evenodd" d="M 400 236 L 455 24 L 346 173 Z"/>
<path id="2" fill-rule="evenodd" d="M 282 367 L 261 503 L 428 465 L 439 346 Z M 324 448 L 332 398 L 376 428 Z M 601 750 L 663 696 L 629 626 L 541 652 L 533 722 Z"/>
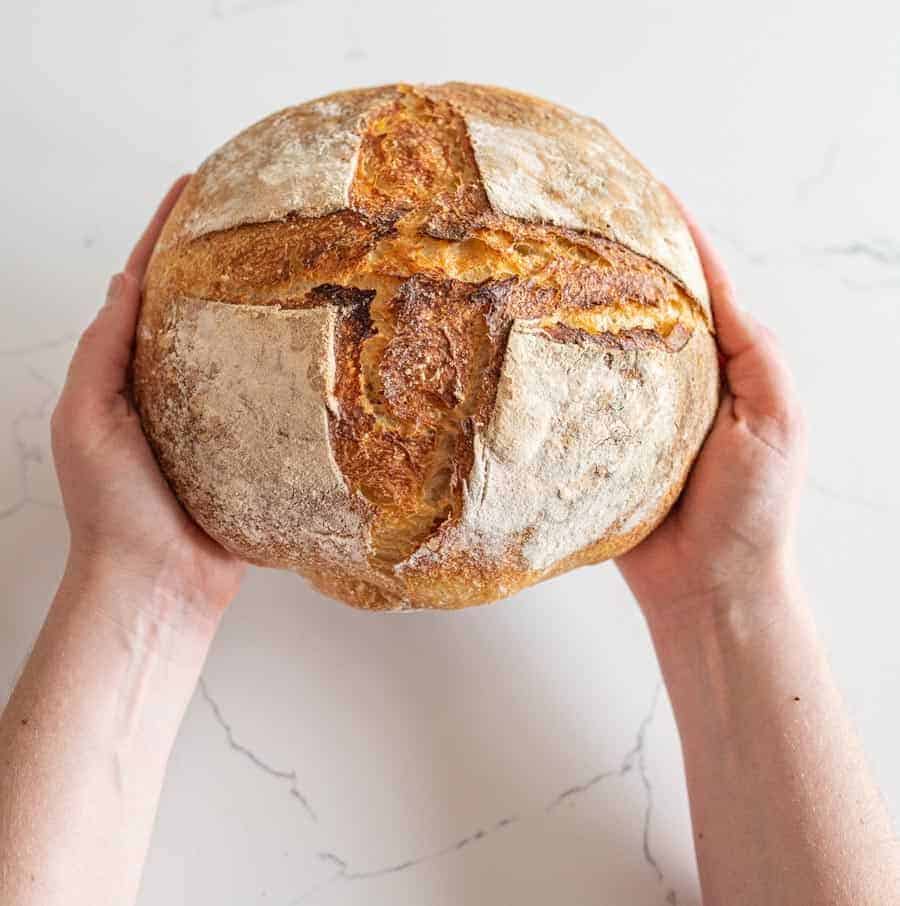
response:
<path id="1" fill-rule="evenodd" d="M 335 309 L 261 315 L 152 293 L 144 309 L 156 328 L 145 321 L 138 332 L 135 400 L 191 515 L 253 562 L 364 567 L 370 507 L 329 449 Z"/>

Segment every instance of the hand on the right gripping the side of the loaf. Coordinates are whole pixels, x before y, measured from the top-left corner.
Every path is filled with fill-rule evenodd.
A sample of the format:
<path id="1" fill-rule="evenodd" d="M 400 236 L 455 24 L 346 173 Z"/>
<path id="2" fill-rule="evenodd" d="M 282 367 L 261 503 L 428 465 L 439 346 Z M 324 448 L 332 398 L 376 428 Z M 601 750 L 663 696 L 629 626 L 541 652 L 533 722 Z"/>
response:
<path id="1" fill-rule="evenodd" d="M 806 463 L 803 416 L 778 344 L 738 307 L 721 258 L 682 213 L 709 285 L 727 389 L 681 498 L 617 560 L 644 613 L 663 622 L 791 580 Z"/>

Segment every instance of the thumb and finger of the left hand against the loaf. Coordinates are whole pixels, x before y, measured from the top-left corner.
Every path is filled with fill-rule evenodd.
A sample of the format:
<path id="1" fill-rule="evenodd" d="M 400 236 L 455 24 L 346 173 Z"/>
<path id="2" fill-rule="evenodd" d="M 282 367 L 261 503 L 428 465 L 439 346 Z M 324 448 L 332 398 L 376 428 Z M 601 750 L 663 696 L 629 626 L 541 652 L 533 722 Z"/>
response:
<path id="1" fill-rule="evenodd" d="M 125 389 L 140 310 L 141 282 L 163 224 L 187 179 L 182 176 L 166 193 L 125 270 L 110 281 L 105 304 L 82 334 L 63 391 L 63 399 L 69 405 L 96 412 Z"/>

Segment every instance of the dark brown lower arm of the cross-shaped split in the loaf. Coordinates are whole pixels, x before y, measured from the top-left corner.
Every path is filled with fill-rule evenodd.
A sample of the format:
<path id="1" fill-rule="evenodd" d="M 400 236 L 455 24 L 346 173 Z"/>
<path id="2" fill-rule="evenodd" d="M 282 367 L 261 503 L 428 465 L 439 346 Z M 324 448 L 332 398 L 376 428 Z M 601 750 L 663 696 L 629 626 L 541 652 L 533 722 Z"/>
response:
<path id="1" fill-rule="evenodd" d="M 416 276 L 341 320 L 335 459 L 377 511 L 373 566 L 390 569 L 459 514 L 472 431 L 493 402 L 501 338 L 472 286 Z"/>

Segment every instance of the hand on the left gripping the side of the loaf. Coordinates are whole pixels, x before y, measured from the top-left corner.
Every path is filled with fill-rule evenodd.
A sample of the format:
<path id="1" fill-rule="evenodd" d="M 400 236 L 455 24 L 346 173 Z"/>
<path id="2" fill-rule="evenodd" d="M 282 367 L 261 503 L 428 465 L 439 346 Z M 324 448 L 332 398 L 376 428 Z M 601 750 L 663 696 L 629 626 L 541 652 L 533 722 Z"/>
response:
<path id="1" fill-rule="evenodd" d="M 141 283 L 188 177 L 179 179 L 82 335 L 51 419 L 53 458 L 71 542 L 67 573 L 142 584 L 142 600 L 216 617 L 244 569 L 206 535 L 169 489 L 129 398 Z M 146 606 L 146 603 L 144 604 Z M 167 616 L 167 619 L 169 617 Z"/>

